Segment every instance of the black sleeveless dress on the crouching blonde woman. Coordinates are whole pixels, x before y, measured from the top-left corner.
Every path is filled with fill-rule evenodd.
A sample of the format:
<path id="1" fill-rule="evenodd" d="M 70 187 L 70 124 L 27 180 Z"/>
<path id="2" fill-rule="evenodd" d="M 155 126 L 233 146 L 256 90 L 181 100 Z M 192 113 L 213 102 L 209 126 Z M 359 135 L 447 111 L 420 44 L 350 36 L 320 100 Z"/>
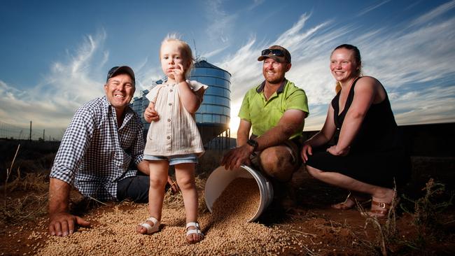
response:
<path id="1" fill-rule="evenodd" d="M 344 117 L 352 104 L 357 78 L 346 99 L 344 110 L 339 113 L 339 92 L 332 99 L 334 121 L 337 132 L 343 126 Z M 384 88 L 384 87 L 383 87 Z M 385 89 L 384 89 L 385 91 Z M 309 156 L 308 166 L 321 171 L 342 173 L 364 183 L 381 187 L 393 187 L 407 182 L 411 173 L 409 155 L 402 145 L 398 126 L 393 117 L 388 96 L 378 104 L 372 104 L 351 143 L 349 154 L 331 155 L 325 150 L 329 145 L 314 150 Z M 337 138 L 335 138 L 335 143 Z"/>

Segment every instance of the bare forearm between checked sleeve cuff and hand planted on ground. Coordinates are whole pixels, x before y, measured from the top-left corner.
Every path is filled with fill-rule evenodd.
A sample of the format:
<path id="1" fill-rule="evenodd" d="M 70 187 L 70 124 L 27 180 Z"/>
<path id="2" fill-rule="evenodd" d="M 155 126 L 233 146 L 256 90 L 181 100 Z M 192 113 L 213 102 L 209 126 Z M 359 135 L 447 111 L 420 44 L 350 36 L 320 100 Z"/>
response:
<path id="1" fill-rule="evenodd" d="M 71 185 L 57 178 L 50 178 L 49 215 L 69 211 L 69 192 Z"/>

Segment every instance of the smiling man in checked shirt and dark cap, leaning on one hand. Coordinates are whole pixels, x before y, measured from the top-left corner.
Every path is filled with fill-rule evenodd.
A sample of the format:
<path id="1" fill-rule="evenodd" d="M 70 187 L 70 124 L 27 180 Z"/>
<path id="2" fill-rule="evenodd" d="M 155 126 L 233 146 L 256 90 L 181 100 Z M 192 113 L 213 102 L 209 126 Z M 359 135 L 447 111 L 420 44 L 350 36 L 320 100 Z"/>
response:
<path id="1" fill-rule="evenodd" d="M 148 176 L 142 160 L 144 137 L 139 116 L 129 107 L 134 95 L 134 72 L 115 66 L 107 76 L 106 95 L 76 111 L 62 138 L 50 172 L 49 233 L 66 236 L 89 222 L 69 213 L 71 185 L 84 197 L 102 201 L 148 201 Z M 168 179 L 169 183 L 172 180 Z M 176 191 L 177 187 L 172 187 Z"/>

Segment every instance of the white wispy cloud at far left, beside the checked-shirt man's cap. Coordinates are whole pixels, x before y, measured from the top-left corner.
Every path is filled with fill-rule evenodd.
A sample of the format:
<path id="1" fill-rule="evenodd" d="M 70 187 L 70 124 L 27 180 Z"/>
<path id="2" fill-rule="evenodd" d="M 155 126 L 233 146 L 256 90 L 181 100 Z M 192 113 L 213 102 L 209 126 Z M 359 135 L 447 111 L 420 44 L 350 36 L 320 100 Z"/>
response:
<path id="1" fill-rule="evenodd" d="M 61 136 L 76 108 L 103 94 L 97 71 L 109 58 L 109 52 L 102 50 L 105 40 L 105 31 L 87 35 L 75 52 L 68 52 L 66 62 L 52 64 L 45 78 L 30 90 L 0 82 L 0 119 L 19 126 L 33 120 L 34 126 L 54 127 L 59 134 L 52 136 Z"/>

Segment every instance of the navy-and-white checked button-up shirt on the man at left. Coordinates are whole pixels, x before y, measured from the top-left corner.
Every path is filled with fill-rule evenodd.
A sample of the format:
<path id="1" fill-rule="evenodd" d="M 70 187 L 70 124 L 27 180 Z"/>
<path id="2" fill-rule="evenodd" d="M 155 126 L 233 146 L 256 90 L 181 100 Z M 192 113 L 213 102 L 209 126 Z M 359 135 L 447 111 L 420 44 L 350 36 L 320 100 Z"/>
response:
<path id="1" fill-rule="evenodd" d="M 144 154 L 142 123 L 130 107 L 117 126 L 106 97 L 80 107 L 64 133 L 50 178 L 73 184 L 85 197 L 116 200 L 118 180 L 136 176 L 128 167 L 139 164 Z"/>

